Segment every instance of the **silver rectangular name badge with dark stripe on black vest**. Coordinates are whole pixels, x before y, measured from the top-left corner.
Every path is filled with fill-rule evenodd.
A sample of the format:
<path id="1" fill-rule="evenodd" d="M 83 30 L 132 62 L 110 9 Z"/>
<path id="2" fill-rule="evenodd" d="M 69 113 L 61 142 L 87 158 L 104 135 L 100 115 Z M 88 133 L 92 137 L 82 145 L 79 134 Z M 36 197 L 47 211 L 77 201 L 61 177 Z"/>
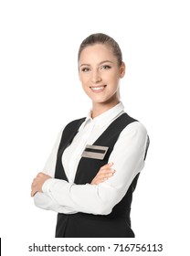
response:
<path id="1" fill-rule="evenodd" d="M 81 156 L 102 160 L 106 155 L 108 149 L 109 149 L 108 146 L 87 144 Z"/>

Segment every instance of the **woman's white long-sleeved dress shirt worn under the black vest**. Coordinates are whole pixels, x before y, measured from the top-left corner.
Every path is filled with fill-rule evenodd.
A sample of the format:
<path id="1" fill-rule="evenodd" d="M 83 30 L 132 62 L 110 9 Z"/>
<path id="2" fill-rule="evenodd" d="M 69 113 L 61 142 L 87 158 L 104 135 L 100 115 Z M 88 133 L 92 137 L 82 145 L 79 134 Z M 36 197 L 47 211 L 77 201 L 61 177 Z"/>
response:
<path id="1" fill-rule="evenodd" d="M 113 176 L 99 185 L 76 185 L 74 178 L 86 144 L 93 144 L 123 112 L 124 108 L 120 102 L 94 119 L 91 119 L 90 114 L 87 116 L 85 122 L 79 127 L 79 133 L 62 155 L 62 164 L 69 182 L 56 178 L 47 179 L 42 187 L 43 193 L 37 192 L 34 197 L 37 207 L 67 214 L 85 212 L 107 215 L 111 213 L 112 208 L 126 194 L 133 178 L 143 168 L 147 132 L 142 123 L 130 123 L 120 133 L 108 162 L 113 163 L 112 168 L 116 170 Z M 43 170 L 52 177 L 55 175 L 62 131 L 58 134 L 56 144 Z"/>

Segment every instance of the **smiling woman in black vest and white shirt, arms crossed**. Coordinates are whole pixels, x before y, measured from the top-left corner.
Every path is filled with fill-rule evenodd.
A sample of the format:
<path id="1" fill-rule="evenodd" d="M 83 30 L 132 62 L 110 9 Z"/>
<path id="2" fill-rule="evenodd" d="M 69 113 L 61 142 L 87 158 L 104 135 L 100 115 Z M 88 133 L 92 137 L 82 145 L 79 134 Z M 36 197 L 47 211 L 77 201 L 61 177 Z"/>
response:
<path id="1" fill-rule="evenodd" d="M 121 49 L 105 34 L 79 48 L 79 80 L 92 101 L 86 118 L 58 135 L 43 173 L 32 183 L 39 208 L 58 212 L 56 237 L 127 237 L 132 192 L 144 165 L 146 129 L 123 110 Z"/>

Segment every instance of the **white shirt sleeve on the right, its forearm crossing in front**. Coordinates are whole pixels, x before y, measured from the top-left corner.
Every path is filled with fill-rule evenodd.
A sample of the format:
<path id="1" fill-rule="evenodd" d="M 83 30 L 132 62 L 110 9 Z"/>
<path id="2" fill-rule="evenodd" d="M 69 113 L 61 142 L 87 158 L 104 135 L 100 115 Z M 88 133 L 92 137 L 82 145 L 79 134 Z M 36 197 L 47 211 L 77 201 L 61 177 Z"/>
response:
<path id="1" fill-rule="evenodd" d="M 147 144 L 142 123 L 129 124 L 120 134 L 109 162 L 114 176 L 99 185 L 76 185 L 56 178 L 47 179 L 42 190 L 52 203 L 73 212 L 107 215 L 121 201 L 133 178 L 141 172 Z M 42 193 L 43 194 L 43 193 Z"/>

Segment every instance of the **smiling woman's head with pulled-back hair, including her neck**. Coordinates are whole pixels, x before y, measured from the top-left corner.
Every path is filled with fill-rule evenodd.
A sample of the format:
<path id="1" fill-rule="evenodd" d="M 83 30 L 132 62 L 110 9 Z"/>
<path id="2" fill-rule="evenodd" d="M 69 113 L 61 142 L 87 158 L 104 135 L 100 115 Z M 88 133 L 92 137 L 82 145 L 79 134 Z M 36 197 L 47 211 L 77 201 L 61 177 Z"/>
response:
<path id="1" fill-rule="evenodd" d="M 99 34 L 99 41 L 96 44 L 94 40 L 96 38 L 93 35 L 83 41 L 78 59 L 79 80 L 92 100 L 92 107 L 95 110 L 93 117 L 119 102 L 119 80 L 125 73 L 125 64 L 121 61 L 118 44 L 111 38 L 106 40 L 102 34 Z"/>

